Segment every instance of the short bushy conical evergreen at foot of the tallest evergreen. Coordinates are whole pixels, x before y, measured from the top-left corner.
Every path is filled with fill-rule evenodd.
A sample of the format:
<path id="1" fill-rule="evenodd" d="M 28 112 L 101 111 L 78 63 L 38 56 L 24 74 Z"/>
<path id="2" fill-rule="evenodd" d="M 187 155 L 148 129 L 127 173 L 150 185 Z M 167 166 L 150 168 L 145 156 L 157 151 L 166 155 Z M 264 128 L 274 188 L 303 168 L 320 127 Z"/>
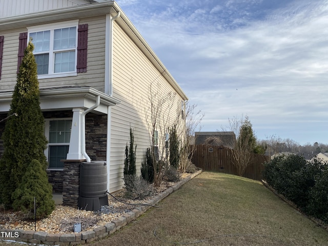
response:
<path id="1" fill-rule="evenodd" d="M 23 212 L 34 210 L 34 197 L 36 207 L 36 218 L 44 218 L 55 209 L 52 199 L 52 186 L 48 182 L 48 175 L 38 160 L 32 160 L 28 165 L 22 182 L 12 194 L 13 208 Z M 31 214 L 32 218 L 34 217 Z"/>

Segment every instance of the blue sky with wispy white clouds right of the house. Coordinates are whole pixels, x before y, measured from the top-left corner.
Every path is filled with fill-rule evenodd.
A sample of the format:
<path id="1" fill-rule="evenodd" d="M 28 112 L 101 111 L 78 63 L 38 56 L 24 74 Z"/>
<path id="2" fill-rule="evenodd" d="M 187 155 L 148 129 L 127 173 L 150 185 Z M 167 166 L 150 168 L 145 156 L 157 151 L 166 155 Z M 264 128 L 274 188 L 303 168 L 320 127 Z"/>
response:
<path id="1" fill-rule="evenodd" d="M 204 113 L 258 139 L 328 144 L 328 0 L 117 0 Z"/>

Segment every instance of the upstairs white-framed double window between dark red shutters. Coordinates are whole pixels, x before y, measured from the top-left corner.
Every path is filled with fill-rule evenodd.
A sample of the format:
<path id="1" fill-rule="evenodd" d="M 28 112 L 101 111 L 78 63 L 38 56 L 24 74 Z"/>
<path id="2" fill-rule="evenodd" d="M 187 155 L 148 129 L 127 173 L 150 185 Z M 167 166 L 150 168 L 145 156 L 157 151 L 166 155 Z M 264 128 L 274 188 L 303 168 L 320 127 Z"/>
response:
<path id="1" fill-rule="evenodd" d="M 76 74 L 77 27 L 78 22 L 65 22 L 28 29 L 39 77 Z"/>

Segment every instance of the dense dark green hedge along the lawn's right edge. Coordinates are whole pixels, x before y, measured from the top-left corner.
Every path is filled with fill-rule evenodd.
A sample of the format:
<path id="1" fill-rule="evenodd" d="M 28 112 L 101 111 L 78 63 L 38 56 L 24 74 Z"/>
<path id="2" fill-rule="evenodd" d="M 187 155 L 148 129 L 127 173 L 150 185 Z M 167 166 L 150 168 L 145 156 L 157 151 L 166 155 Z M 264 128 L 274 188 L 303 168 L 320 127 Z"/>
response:
<path id="1" fill-rule="evenodd" d="M 263 179 L 308 215 L 328 222 L 327 163 L 281 155 L 264 163 Z"/>

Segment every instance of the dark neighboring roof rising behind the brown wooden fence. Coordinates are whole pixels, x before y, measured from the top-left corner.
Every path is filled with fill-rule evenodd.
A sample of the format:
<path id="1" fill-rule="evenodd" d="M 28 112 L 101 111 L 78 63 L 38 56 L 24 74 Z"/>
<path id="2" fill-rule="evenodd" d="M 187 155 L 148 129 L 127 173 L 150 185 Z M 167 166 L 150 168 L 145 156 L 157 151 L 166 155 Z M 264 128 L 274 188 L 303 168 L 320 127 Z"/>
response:
<path id="1" fill-rule="evenodd" d="M 214 145 L 228 148 L 234 147 L 236 135 L 234 132 L 195 132 L 196 145 Z"/>

